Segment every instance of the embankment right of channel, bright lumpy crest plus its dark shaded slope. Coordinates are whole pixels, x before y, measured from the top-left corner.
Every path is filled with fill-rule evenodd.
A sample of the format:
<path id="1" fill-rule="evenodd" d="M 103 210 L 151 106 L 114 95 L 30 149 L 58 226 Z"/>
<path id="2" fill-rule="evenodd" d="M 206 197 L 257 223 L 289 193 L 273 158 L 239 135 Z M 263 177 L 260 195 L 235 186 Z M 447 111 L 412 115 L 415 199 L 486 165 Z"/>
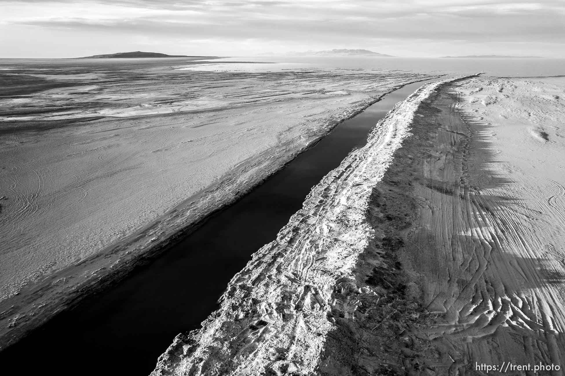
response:
<path id="1" fill-rule="evenodd" d="M 418 286 L 396 259 L 417 215 L 402 197 L 411 177 L 384 177 L 405 140 L 418 144 L 410 137 L 416 110 L 459 79 L 422 86 L 379 121 L 367 145 L 328 173 L 277 239 L 233 277 L 202 329 L 175 338 L 152 375 L 421 369 L 424 344 L 408 326 L 427 319 Z M 407 153 L 403 161 L 416 158 Z M 400 204 L 387 207 L 390 196 Z"/>

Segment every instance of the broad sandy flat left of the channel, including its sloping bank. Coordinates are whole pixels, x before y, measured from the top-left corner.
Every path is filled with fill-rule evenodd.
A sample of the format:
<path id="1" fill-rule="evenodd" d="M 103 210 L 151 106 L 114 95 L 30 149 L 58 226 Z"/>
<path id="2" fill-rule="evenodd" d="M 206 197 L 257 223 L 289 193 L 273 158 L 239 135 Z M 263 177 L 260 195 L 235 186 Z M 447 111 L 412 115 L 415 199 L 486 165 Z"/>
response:
<path id="1" fill-rule="evenodd" d="M 430 77 L 182 64 L 49 60 L 2 71 L 0 346 L 156 254 L 339 121 Z"/>

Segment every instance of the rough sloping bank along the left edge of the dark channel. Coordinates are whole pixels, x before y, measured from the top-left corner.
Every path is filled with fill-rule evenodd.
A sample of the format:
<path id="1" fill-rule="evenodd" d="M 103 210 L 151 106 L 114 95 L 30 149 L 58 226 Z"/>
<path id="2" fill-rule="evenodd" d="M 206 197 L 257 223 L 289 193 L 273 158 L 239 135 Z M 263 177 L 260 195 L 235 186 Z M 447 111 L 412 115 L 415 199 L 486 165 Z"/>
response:
<path id="1" fill-rule="evenodd" d="M 440 76 L 434 77 L 438 78 Z M 311 136 L 308 145 L 291 154 L 279 155 L 279 158 L 275 161 L 270 161 L 270 164 L 261 164 L 266 159 L 263 158 L 263 155 L 255 156 L 251 160 L 240 163 L 235 168 L 235 171 L 228 174 L 228 176 L 224 176 L 222 180 L 185 199 L 184 202 L 177 204 L 162 216 L 149 222 L 149 224 L 145 224 L 126 238 L 112 243 L 97 254 L 81 260 L 78 264 L 45 278 L 40 283 L 30 283 L 20 291 L 19 295 L 12 296 L 0 303 L 0 311 L 2 311 L 0 322 L 7 324 L 0 330 L 0 348 L 7 348 L 14 344 L 30 331 L 49 321 L 50 318 L 59 312 L 75 307 L 82 299 L 88 299 L 90 295 L 111 288 L 111 286 L 119 283 L 136 266 L 146 264 L 150 260 L 155 259 L 160 253 L 166 251 L 173 244 L 179 242 L 194 229 L 198 228 L 199 224 L 207 218 L 214 216 L 216 212 L 233 204 L 238 198 L 241 198 L 241 196 L 267 180 L 268 177 L 284 168 L 297 155 L 315 146 L 321 138 L 329 134 L 333 128 L 343 121 L 358 115 L 358 113 L 364 111 L 371 104 L 379 102 L 381 98 L 392 93 L 392 91 L 408 84 L 429 79 L 428 77 L 397 86 L 393 90 L 379 95 L 379 97 L 368 99 L 359 106 L 350 108 L 344 118 L 333 122 L 328 120 L 318 133 Z M 290 147 L 290 144 L 288 142 L 287 147 Z M 254 174 L 253 172 L 257 169 L 262 170 L 263 177 L 253 180 L 253 176 L 257 176 L 257 173 Z M 268 173 L 265 172 L 266 170 L 268 170 Z M 251 178 L 244 181 L 234 178 L 245 176 L 245 174 L 251 176 Z M 229 186 L 229 183 L 232 183 L 232 185 Z M 237 193 L 234 194 L 234 191 Z M 206 197 L 203 197 L 203 194 L 207 194 Z M 206 202 L 201 204 L 201 207 L 212 207 L 213 209 L 208 212 L 192 211 L 191 203 L 197 202 L 199 199 Z M 212 206 L 210 202 L 214 202 L 215 206 Z M 175 222 L 175 219 L 180 217 L 184 217 L 182 221 Z M 80 278 L 86 279 L 76 281 Z"/>

